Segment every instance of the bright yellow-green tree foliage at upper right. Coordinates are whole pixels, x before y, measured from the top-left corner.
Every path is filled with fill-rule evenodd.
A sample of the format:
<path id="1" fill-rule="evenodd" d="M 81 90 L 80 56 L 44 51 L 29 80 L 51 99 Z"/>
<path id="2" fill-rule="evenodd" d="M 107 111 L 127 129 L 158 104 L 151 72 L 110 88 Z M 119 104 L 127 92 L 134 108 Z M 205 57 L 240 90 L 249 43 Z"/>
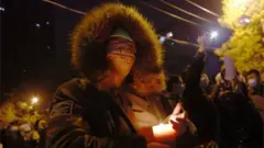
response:
<path id="1" fill-rule="evenodd" d="M 232 57 L 241 72 L 250 69 L 264 71 L 264 36 L 261 25 L 264 19 L 264 0 L 241 0 L 244 2 L 237 5 L 234 1 L 238 0 L 222 2 L 223 15 L 219 21 L 222 25 L 232 29 L 233 35 L 220 49 L 216 50 L 216 54 Z M 251 22 L 242 25 L 239 19 L 244 15 L 249 16 Z"/>

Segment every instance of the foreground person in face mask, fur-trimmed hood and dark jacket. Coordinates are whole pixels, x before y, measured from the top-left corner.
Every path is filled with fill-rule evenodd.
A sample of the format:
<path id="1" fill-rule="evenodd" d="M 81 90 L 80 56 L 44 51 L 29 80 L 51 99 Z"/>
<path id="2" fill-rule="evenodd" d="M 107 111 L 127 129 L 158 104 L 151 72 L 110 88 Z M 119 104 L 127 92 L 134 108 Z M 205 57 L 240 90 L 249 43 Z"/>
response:
<path id="1" fill-rule="evenodd" d="M 91 10 L 73 34 L 72 61 L 84 78 L 65 82 L 55 92 L 46 147 L 169 147 L 157 141 L 153 130 L 136 128 L 131 112 L 116 101 L 117 90 L 130 75 L 142 79 L 163 66 L 157 35 L 135 9 L 108 3 Z M 135 75 L 143 70 L 143 76 Z M 185 124 L 185 117 L 179 119 L 169 125 L 170 130 Z M 175 134 L 169 136 L 176 139 Z"/>

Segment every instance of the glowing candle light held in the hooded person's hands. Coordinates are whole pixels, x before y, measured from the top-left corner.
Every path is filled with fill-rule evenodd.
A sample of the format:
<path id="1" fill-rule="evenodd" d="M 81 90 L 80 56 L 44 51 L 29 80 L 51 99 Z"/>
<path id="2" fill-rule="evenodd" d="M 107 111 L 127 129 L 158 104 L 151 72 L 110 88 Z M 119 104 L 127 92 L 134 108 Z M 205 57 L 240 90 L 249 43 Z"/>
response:
<path id="1" fill-rule="evenodd" d="M 152 127 L 153 136 L 156 141 L 169 141 L 175 140 L 177 133 L 173 128 L 172 124 L 160 124 Z"/>

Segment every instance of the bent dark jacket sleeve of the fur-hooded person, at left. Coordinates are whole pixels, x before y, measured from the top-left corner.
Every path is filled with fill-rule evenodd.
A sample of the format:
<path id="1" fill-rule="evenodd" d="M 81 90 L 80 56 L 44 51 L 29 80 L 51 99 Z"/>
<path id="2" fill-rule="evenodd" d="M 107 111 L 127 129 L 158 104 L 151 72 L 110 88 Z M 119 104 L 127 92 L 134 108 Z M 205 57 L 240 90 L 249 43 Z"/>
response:
<path id="1" fill-rule="evenodd" d="M 84 106 L 76 82 L 67 82 L 54 94 L 46 147 L 48 148 L 145 148 L 146 141 L 138 135 L 120 137 L 97 137 L 92 135 L 89 121 L 81 115 Z M 99 127 L 100 128 L 100 127 Z"/>

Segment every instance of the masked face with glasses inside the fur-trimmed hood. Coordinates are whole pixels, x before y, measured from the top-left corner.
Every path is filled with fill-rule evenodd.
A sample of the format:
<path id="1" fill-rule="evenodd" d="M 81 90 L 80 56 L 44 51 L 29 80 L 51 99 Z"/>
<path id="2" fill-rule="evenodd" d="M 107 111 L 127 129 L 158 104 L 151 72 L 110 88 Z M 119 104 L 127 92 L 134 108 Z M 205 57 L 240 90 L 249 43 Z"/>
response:
<path id="1" fill-rule="evenodd" d="M 112 38 L 108 45 L 108 70 L 113 76 L 112 84 L 120 87 L 130 73 L 135 61 L 135 47 L 132 42 L 123 38 Z"/>

